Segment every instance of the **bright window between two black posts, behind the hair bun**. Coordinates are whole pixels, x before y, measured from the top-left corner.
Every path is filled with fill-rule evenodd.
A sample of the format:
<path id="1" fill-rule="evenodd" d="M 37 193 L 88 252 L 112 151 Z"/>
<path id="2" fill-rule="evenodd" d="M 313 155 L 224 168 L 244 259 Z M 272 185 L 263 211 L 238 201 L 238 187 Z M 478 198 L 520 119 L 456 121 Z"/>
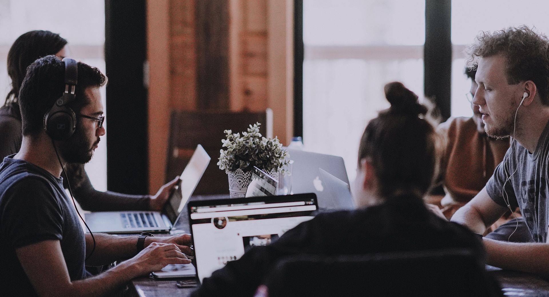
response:
<path id="1" fill-rule="evenodd" d="M 383 86 L 423 94 L 424 0 L 304 0 L 305 150 L 341 156 L 356 175 L 360 137 L 389 107 Z"/>

